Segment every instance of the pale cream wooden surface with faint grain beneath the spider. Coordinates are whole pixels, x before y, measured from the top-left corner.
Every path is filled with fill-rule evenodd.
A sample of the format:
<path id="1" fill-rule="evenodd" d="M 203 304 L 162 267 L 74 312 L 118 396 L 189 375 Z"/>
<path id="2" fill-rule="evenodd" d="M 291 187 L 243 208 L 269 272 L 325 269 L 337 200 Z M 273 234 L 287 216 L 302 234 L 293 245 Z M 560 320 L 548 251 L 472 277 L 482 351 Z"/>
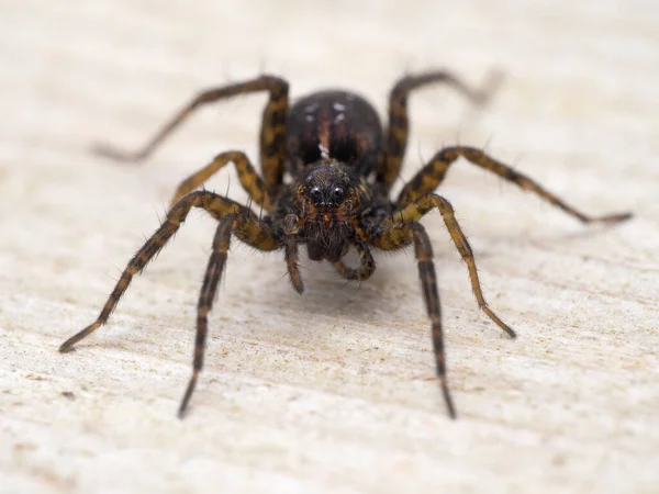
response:
<path id="1" fill-rule="evenodd" d="M 0 1 L 0 492 L 659 492 L 659 3 Z M 276 7 L 279 5 L 279 7 Z M 443 193 L 477 252 L 478 312 L 437 214 L 450 422 L 413 256 L 361 287 L 234 243 L 185 420 L 213 222 L 190 215 L 89 324 L 178 182 L 223 149 L 256 158 L 264 97 L 196 116 L 145 166 L 136 146 L 197 90 L 264 70 L 294 97 L 343 86 L 382 111 L 401 74 L 505 79 L 482 112 L 412 102 L 409 178 L 443 144 L 485 146 L 589 213 L 584 227 L 461 162 Z M 245 200 L 233 171 L 209 183 Z"/>

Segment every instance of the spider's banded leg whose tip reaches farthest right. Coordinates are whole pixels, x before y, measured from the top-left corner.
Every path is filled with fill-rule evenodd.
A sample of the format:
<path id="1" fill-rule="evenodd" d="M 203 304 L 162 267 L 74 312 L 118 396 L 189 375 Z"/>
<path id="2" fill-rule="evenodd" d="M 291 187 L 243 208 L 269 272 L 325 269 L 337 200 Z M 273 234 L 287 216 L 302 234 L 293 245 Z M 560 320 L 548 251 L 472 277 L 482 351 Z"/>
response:
<path id="1" fill-rule="evenodd" d="M 405 184 L 399 195 L 398 203 L 402 206 L 405 206 L 433 192 L 444 180 L 448 168 L 460 157 L 467 159 L 469 162 L 476 166 L 492 171 L 501 178 L 517 184 L 524 190 L 535 192 L 545 201 L 554 204 L 583 223 L 616 223 L 628 220 L 632 216 L 630 213 L 588 216 L 568 205 L 566 202 L 545 190 L 541 186 L 528 177 L 513 170 L 510 166 L 496 161 L 480 149 L 466 146 L 446 147 L 439 150 L 433 157 L 433 159 L 425 167 L 423 167 L 421 171 L 418 171 L 418 173 L 416 173 L 416 176 L 410 182 L 407 182 L 407 184 Z"/>

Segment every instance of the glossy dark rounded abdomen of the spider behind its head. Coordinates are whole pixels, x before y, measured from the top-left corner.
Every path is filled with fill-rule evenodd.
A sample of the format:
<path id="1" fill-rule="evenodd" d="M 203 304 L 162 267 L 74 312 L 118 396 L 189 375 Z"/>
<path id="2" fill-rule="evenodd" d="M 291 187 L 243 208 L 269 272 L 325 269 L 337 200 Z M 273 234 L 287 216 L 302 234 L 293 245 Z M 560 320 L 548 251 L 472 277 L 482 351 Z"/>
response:
<path id="1" fill-rule="evenodd" d="M 289 172 L 304 173 L 306 165 L 330 157 L 368 176 L 378 161 L 382 143 L 382 124 L 371 104 L 346 91 L 315 92 L 298 100 L 287 122 Z"/>

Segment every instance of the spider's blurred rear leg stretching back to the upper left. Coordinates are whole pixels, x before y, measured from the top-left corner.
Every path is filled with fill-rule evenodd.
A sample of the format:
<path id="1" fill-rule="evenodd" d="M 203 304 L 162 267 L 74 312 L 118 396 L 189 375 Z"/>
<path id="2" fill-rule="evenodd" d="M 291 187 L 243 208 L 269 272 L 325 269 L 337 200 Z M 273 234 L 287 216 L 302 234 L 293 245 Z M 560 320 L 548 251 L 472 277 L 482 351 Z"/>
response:
<path id="1" fill-rule="evenodd" d="M 267 75 L 243 82 L 208 89 L 200 92 L 179 110 L 142 148 L 126 153 L 112 146 L 99 145 L 96 150 L 119 161 L 143 160 L 200 106 L 238 94 L 268 91 L 269 99 L 264 109 L 260 128 L 260 161 L 266 184 L 268 188 L 275 188 L 281 183 L 283 177 L 288 90 L 289 85 L 286 80 Z"/>

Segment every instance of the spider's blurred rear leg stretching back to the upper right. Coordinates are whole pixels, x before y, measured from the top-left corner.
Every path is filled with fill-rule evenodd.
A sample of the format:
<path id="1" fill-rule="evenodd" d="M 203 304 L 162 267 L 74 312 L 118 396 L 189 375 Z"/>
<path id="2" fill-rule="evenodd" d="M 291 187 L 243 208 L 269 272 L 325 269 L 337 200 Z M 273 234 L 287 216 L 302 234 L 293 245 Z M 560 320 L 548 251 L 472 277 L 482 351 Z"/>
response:
<path id="1" fill-rule="evenodd" d="M 389 96 L 389 126 L 384 137 L 384 154 L 378 164 L 377 181 L 389 190 L 399 176 L 407 147 L 407 98 L 413 91 L 443 82 L 455 88 L 472 103 L 482 105 L 488 102 L 500 80 L 501 75 L 493 72 L 479 90 L 470 88 L 461 79 L 444 70 L 406 76 L 399 80 Z"/>

